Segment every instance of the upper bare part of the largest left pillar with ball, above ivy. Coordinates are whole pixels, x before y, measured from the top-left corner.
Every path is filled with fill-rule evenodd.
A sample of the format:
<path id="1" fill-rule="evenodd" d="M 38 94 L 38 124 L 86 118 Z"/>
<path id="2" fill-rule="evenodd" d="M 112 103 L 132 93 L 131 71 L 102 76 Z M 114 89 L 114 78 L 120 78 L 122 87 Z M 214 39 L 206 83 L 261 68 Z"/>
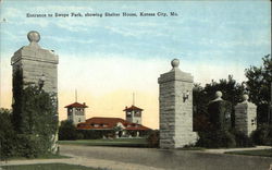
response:
<path id="1" fill-rule="evenodd" d="M 30 44 L 18 49 L 11 58 L 13 75 L 21 71 L 24 85 L 36 84 L 47 93 L 57 94 L 59 57 L 53 50 L 42 49 L 38 45 L 38 32 L 29 32 L 27 38 Z"/>

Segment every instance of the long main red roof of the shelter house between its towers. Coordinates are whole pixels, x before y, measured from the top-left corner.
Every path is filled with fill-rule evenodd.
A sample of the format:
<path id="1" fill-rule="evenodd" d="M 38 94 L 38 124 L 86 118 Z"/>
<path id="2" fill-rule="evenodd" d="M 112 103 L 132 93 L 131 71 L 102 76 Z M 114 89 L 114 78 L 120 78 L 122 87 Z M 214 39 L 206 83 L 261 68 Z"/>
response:
<path id="1" fill-rule="evenodd" d="M 122 123 L 125 130 L 129 131 L 147 131 L 150 130 L 147 126 L 141 124 L 131 123 L 121 118 L 101 118 L 101 117 L 94 117 L 87 119 L 86 122 L 82 122 L 77 124 L 77 130 L 112 130 L 116 126 L 118 123 Z"/>

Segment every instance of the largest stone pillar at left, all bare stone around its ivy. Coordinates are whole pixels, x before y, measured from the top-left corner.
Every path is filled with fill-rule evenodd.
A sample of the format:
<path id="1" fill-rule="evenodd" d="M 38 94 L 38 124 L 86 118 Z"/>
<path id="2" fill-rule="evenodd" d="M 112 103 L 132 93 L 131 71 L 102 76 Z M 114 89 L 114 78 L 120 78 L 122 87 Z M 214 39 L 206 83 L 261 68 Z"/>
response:
<path id="1" fill-rule="evenodd" d="M 20 120 L 15 125 L 22 124 L 22 90 L 29 85 L 36 85 L 39 89 L 44 89 L 52 97 L 54 118 L 58 121 L 58 63 L 59 57 L 53 50 L 47 50 L 38 45 L 40 34 L 32 31 L 27 34 L 29 40 L 28 46 L 24 46 L 14 52 L 11 58 L 13 71 L 13 105 Z M 27 120 L 25 120 L 27 121 Z M 44 122 L 39 122 L 44 123 Z M 46 126 L 45 126 L 46 127 Z M 20 130 L 20 127 L 17 127 Z M 23 130 L 21 130 L 23 131 Z M 24 132 L 21 132 L 24 133 Z M 52 134 L 52 150 L 57 150 L 58 135 Z"/>

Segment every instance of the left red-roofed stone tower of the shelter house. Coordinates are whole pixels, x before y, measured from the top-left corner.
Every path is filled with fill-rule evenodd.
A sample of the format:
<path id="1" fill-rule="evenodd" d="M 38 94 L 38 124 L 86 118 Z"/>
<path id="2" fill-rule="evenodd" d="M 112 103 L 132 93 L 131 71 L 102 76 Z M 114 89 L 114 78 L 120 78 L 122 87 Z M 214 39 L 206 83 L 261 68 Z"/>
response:
<path id="1" fill-rule="evenodd" d="M 74 102 L 65 106 L 67 108 L 67 120 L 72 121 L 74 125 L 86 121 L 85 108 L 88 108 L 85 102 Z"/>

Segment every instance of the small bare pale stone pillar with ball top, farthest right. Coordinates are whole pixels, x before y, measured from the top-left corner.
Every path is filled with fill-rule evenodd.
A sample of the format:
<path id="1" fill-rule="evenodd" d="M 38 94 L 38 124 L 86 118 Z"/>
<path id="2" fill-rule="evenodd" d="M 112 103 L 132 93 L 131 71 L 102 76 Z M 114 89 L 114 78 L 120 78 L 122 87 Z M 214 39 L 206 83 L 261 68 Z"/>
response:
<path id="1" fill-rule="evenodd" d="M 248 101 L 248 95 L 244 95 L 243 99 L 235 106 L 235 129 L 249 136 L 257 129 L 257 107 Z"/>

